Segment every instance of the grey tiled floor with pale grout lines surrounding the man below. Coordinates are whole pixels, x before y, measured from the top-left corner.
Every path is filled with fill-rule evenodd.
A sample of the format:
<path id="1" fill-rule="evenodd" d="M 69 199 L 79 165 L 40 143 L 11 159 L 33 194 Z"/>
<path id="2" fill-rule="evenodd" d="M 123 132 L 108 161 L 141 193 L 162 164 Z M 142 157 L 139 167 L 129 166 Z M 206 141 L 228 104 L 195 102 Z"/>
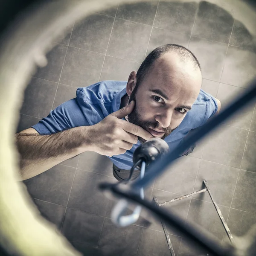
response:
<path id="1" fill-rule="evenodd" d="M 29 128 L 76 88 L 102 80 L 127 80 L 154 47 L 175 43 L 188 47 L 202 66 L 202 88 L 224 108 L 243 93 L 256 75 L 256 47 L 238 20 L 218 6 L 201 2 L 145 3 L 95 13 L 69 29 L 47 55 L 48 65 L 26 89 L 17 131 Z M 255 102 L 226 120 L 195 151 L 169 168 L 146 190 L 159 201 L 201 189 L 206 179 L 231 232 L 247 233 L 256 223 Z M 35 204 L 84 255 L 169 255 L 158 221 L 144 211 L 140 220 L 119 229 L 110 219 L 113 201 L 98 183 L 113 181 L 111 161 L 83 153 L 25 181 Z M 228 241 L 205 194 L 166 206 L 221 241 Z M 151 224 L 145 220 L 151 221 Z M 178 230 L 168 228 L 176 255 L 206 255 Z"/>

